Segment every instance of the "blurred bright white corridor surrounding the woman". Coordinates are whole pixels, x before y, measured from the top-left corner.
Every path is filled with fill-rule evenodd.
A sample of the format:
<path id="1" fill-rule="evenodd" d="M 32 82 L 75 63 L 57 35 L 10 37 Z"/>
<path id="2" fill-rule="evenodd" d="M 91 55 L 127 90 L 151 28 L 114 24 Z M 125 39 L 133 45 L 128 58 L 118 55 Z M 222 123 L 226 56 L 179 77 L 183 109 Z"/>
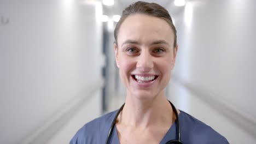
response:
<path id="1" fill-rule="evenodd" d="M 119 108 L 113 30 L 133 0 L 0 0 L 0 142 L 69 143 Z M 256 1 L 160 0 L 179 51 L 168 99 L 230 143 L 256 143 Z"/>

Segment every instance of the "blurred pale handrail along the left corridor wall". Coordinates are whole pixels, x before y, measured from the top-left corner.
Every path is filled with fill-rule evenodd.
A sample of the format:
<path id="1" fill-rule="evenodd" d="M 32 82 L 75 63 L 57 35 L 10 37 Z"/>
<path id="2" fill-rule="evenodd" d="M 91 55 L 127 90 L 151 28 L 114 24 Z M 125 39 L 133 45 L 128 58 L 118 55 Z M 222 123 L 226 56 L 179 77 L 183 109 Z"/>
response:
<path id="1" fill-rule="evenodd" d="M 74 99 L 69 101 L 62 109 L 55 112 L 43 125 L 34 130 L 24 140 L 22 144 L 47 143 L 50 141 L 63 126 L 86 104 L 94 93 L 101 89 L 104 85 L 103 79 L 98 79 L 94 85 L 84 88 Z M 19 142 L 20 143 L 20 142 Z"/>

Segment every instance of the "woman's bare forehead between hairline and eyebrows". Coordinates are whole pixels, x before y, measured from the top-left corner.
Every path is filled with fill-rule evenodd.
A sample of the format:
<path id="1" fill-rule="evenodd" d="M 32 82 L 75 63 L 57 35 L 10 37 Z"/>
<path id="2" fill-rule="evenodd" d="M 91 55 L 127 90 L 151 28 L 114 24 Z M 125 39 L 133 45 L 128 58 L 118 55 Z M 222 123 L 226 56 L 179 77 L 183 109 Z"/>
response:
<path id="1" fill-rule="evenodd" d="M 171 45 L 174 41 L 174 34 L 171 26 L 164 19 L 135 14 L 126 17 L 119 29 L 118 44 L 127 39 L 145 44 L 155 40 L 165 40 Z"/>

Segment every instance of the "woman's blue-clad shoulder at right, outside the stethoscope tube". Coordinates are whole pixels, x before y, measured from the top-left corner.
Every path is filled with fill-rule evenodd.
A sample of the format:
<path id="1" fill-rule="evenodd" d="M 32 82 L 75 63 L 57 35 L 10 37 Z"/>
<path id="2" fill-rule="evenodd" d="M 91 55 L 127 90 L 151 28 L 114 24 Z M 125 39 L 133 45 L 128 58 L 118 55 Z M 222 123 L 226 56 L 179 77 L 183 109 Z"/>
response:
<path id="1" fill-rule="evenodd" d="M 188 138 L 189 143 L 229 143 L 216 130 L 188 113 L 181 111 L 181 117 L 179 118 L 179 121 L 181 121 L 181 131 L 184 131 L 184 136 Z"/>

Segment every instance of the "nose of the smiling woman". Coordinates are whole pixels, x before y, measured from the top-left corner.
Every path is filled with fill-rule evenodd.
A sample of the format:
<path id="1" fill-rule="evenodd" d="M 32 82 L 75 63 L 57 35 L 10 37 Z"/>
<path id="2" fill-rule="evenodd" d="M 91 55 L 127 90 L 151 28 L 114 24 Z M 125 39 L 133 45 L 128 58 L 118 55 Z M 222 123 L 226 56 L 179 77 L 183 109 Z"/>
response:
<path id="1" fill-rule="evenodd" d="M 141 51 L 137 57 L 137 69 L 142 73 L 149 72 L 154 67 L 153 56 L 147 50 Z"/>

